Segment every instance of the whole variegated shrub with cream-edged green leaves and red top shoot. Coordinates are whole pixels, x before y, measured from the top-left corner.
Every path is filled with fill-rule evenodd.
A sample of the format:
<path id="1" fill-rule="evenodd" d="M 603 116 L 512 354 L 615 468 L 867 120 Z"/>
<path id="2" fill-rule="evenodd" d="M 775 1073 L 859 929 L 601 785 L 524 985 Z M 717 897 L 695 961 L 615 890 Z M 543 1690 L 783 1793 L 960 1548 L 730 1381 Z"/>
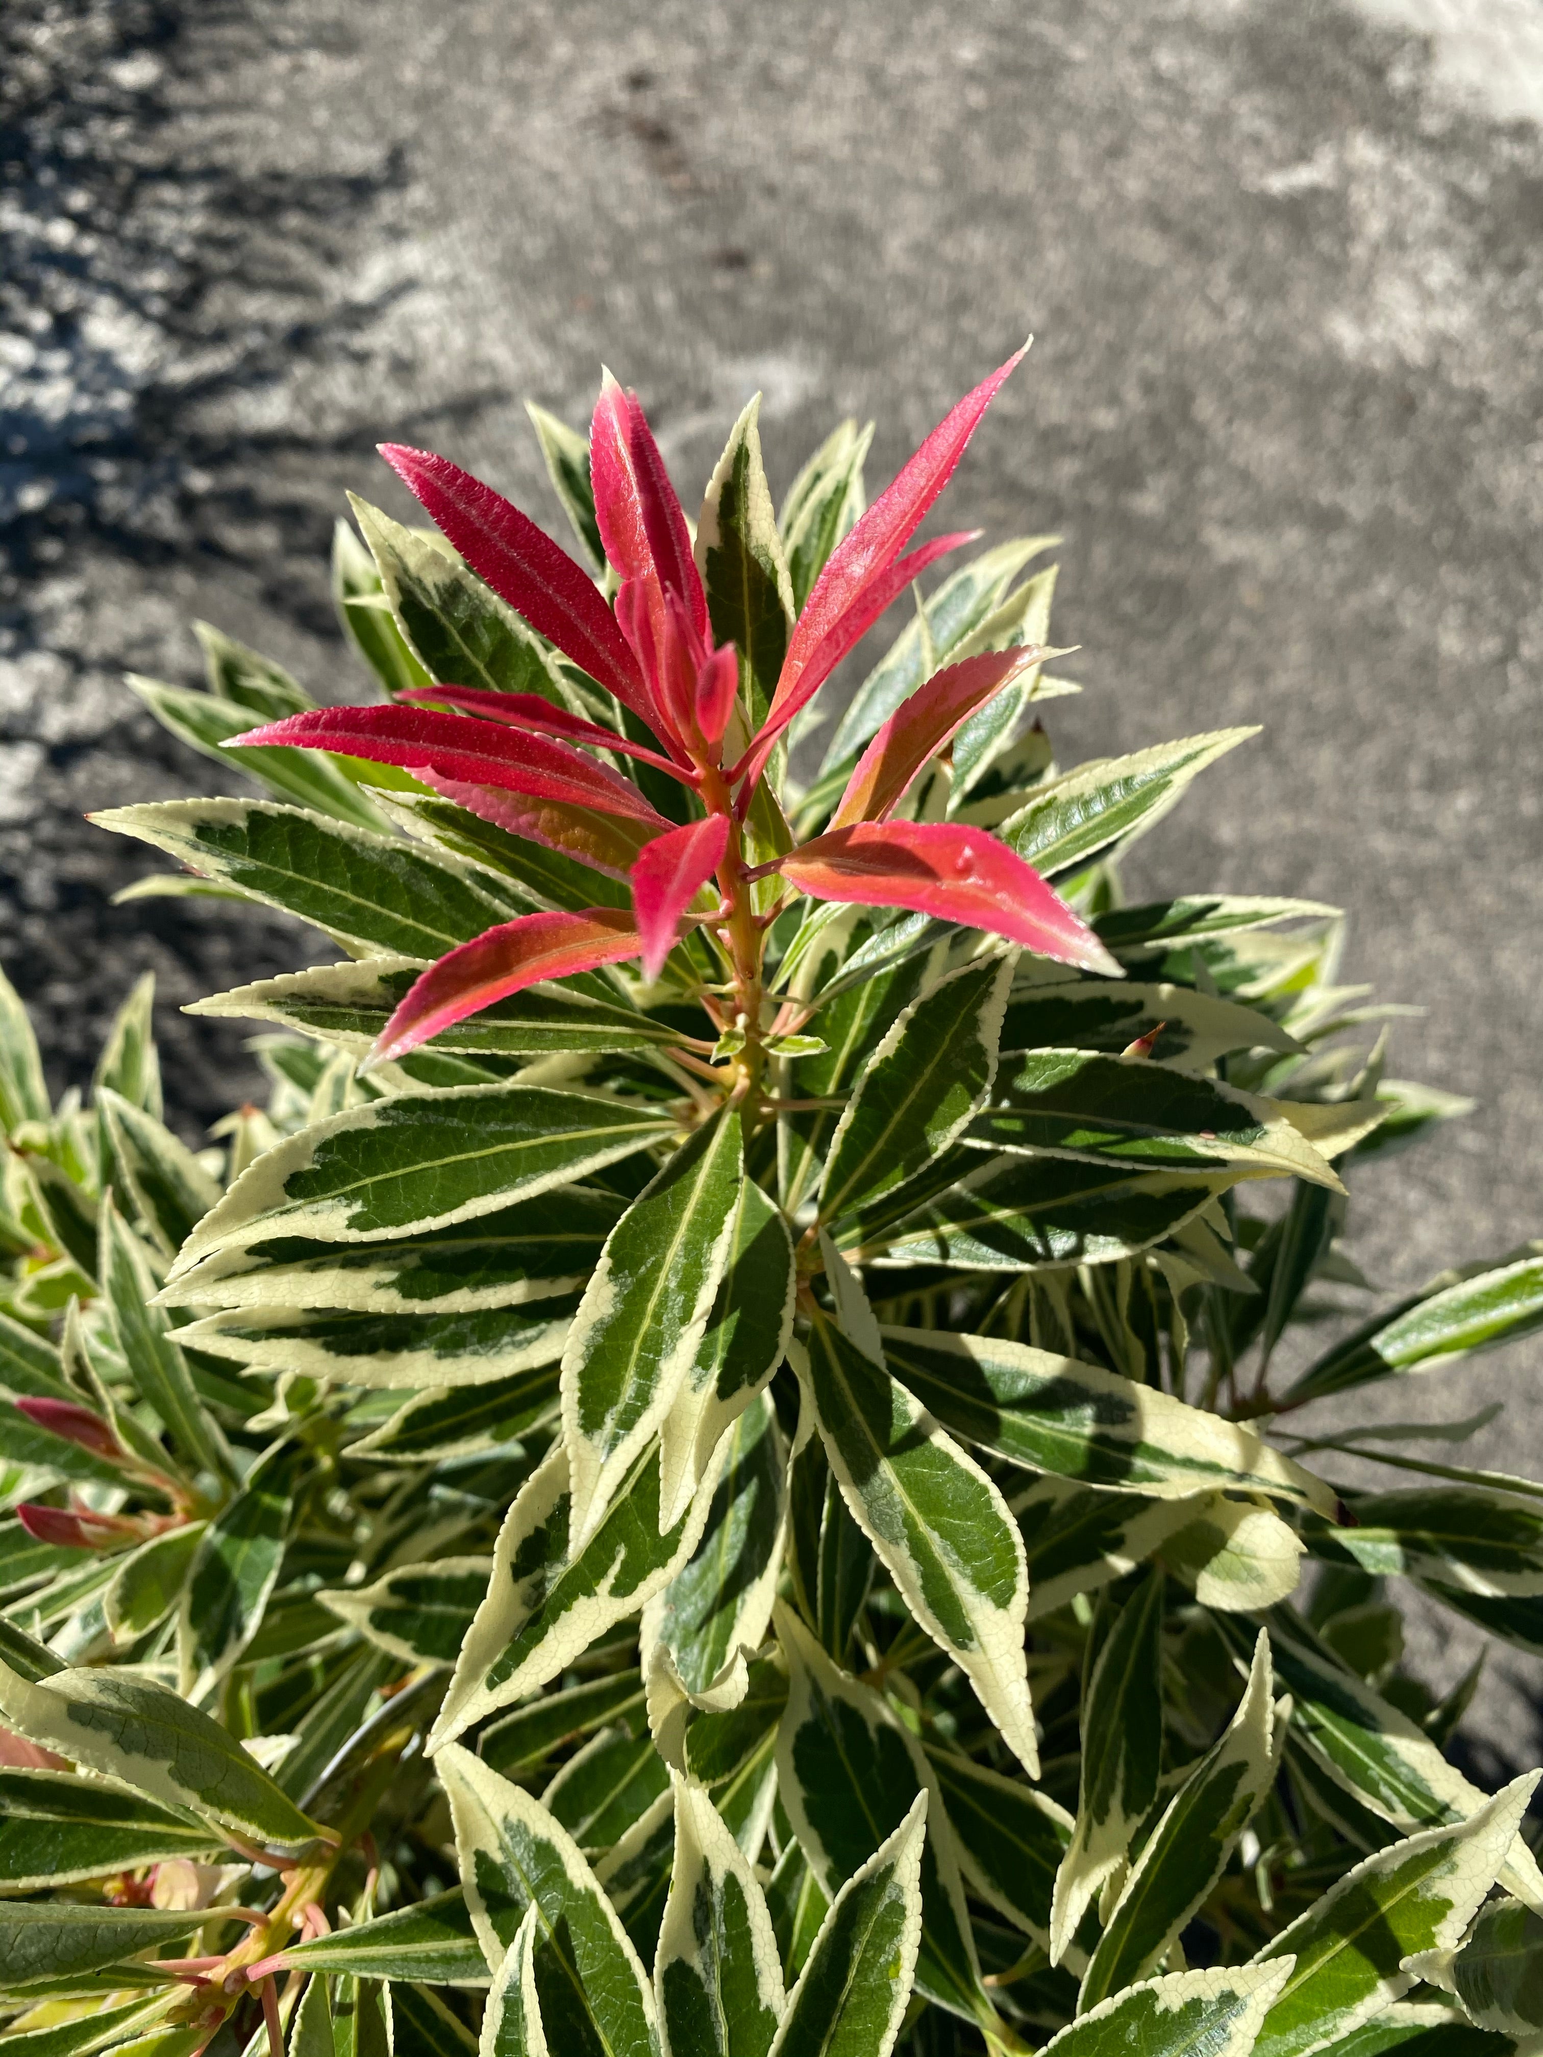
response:
<path id="1" fill-rule="evenodd" d="M 1335 909 L 1123 901 L 1249 730 L 1057 769 L 1051 537 L 918 586 L 1010 370 L 866 512 L 846 424 L 776 514 L 751 403 L 695 531 L 615 383 L 533 409 L 582 564 L 389 448 L 374 703 L 132 681 L 267 788 L 101 817 L 134 891 L 335 963 L 193 1010 L 272 1078 L 198 1152 L 148 987 L 58 1105 L 0 996 L 16 2057 L 1543 2030 L 1533 1779 L 1389 1598 L 1541 1652 L 1543 1487 L 1313 1411 L 1535 1329 L 1543 1247 L 1358 1316 L 1345 1181 L 1461 1103 Z"/>

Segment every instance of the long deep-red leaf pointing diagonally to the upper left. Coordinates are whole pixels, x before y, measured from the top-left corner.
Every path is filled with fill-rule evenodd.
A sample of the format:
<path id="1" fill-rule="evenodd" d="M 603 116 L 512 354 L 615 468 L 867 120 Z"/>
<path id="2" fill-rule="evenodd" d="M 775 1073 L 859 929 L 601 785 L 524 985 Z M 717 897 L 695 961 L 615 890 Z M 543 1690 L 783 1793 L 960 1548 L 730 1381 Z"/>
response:
<path id="1" fill-rule="evenodd" d="M 381 457 L 418 496 L 477 578 L 590 679 L 652 724 L 652 706 L 615 615 L 588 572 L 529 514 L 448 457 L 383 442 Z"/>

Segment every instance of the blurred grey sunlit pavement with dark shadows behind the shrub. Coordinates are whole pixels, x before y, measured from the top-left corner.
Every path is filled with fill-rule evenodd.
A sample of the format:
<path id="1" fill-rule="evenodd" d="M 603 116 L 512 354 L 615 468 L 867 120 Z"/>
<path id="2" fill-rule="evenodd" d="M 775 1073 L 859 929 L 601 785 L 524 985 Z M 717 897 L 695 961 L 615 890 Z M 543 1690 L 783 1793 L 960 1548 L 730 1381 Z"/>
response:
<path id="1" fill-rule="evenodd" d="M 4 0 L 0 961 L 56 1084 L 154 967 L 198 1140 L 255 1074 L 177 1006 L 321 954 L 113 909 L 154 860 L 80 817 L 220 784 L 119 683 L 193 615 L 362 687 L 379 438 L 560 531 L 521 401 L 605 360 L 687 504 L 757 389 L 774 492 L 846 413 L 876 490 L 1033 329 L 946 520 L 1064 535 L 1062 761 L 1263 724 L 1127 887 L 1345 905 L 1426 1010 L 1391 1072 L 1477 1109 L 1360 1177 L 1380 1286 L 1543 1232 L 1539 121 L 1543 0 Z"/>

